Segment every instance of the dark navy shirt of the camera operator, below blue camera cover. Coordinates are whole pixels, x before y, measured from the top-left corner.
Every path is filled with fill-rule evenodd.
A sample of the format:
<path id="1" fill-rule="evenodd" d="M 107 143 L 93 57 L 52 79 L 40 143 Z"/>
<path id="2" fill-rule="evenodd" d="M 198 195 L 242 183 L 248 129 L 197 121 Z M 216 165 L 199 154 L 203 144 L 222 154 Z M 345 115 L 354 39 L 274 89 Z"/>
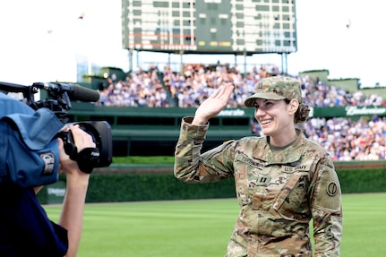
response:
<path id="1" fill-rule="evenodd" d="M 67 230 L 52 222 L 32 188 L 0 186 L 0 256 L 63 257 Z"/>

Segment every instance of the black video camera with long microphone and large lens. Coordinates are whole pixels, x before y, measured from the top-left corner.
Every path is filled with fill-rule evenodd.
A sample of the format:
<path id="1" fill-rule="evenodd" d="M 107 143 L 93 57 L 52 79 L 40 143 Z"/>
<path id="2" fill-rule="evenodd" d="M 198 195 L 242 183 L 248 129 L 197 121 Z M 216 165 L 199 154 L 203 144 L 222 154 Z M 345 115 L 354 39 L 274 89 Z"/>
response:
<path id="1" fill-rule="evenodd" d="M 47 99 L 35 101 L 34 94 L 39 90 L 47 90 Z M 96 102 L 99 100 L 99 92 L 68 83 L 35 82 L 30 86 L 0 81 L 0 91 L 22 93 L 22 101 L 33 110 L 47 108 L 64 124 L 68 122 L 67 111 L 72 107 L 71 101 Z M 80 128 L 89 133 L 96 144 L 95 149 L 77 152 L 73 135 L 69 132 L 57 133 L 64 141 L 64 150 L 76 160 L 81 171 L 91 173 L 94 167 L 108 167 L 112 162 L 112 136 L 111 127 L 106 121 L 83 121 L 71 124 L 79 124 Z"/>

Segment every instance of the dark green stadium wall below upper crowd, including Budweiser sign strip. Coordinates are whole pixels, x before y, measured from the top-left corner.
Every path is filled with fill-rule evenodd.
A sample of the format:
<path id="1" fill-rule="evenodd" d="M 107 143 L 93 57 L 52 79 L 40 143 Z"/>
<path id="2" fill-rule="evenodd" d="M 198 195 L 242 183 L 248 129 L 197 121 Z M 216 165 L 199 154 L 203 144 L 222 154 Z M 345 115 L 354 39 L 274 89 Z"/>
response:
<path id="1" fill-rule="evenodd" d="M 195 108 L 104 107 L 74 102 L 70 122 L 107 121 L 111 126 L 114 156 L 171 156 L 178 139 L 181 118 L 193 116 Z M 253 108 L 229 108 L 210 119 L 204 149 L 230 139 L 253 135 Z M 314 107 L 313 117 L 385 116 L 386 107 Z"/>

